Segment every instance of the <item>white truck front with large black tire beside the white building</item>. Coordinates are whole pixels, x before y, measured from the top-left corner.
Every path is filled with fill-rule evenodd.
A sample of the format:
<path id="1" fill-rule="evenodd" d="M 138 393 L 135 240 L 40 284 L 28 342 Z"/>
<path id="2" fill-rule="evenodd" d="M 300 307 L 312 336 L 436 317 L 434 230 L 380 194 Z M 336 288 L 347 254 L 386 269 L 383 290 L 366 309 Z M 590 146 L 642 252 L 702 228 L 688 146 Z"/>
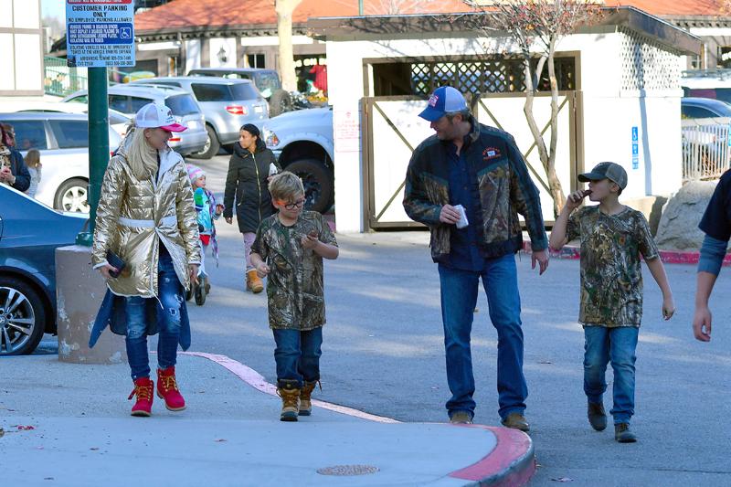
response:
<path id="1" fill-rule="evenodd" d="M 334 203 L 333 109 L 290 111 L 261 133 L 282 168 L 302 178 L 305 207 L 321 213 Z"/>

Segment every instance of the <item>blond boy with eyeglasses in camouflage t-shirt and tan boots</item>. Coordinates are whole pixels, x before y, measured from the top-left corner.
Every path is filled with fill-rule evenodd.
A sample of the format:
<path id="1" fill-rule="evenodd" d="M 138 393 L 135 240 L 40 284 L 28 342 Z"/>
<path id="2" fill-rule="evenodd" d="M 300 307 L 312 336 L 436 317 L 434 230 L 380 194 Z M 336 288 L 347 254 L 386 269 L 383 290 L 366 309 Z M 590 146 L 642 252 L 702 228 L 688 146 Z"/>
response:
<path id="1" fill-rule="evenodd" d="M 323 259 L 337 259 L 337 241 L 315 211 L 304 211 L 304 187 L 285 171 L 269 184 L 278 213 L 264 219 L 251 247 L 251 263 L 267 277 L 269 324 L 274 333 L 277 394 L 282 421 L 310 416 L 320 381 L 325 303 Z"/>

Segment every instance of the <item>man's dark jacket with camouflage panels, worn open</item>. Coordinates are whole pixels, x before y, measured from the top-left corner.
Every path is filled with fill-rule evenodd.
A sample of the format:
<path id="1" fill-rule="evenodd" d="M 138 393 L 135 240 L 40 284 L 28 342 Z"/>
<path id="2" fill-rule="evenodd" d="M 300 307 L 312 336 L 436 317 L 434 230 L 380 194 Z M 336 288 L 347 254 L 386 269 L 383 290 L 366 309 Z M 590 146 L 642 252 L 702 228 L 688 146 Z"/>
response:
<path id="1" fill-rule="evenodd" d="M 472 121 L 467 151 L 467 165 L 472 180 L 480 190 L 478 212 L 480 251 L 485 258 L 501 257 L 523 246 L 518 213 L 525 218 L 531 247 L 548 248 L 541 202 L 533 180 L 528 175 L 523 155 L 513 137 L 501 130 Z M 431 258 L 447 262 L 450 254 L 450 232 L 453 225 L 440 222 L 441 206 L 450 204 L 449 142 L 436 135 L 420 143 L 411 155 L 404 190 L 404 208 L 411 219 L 431 230 Z"/>

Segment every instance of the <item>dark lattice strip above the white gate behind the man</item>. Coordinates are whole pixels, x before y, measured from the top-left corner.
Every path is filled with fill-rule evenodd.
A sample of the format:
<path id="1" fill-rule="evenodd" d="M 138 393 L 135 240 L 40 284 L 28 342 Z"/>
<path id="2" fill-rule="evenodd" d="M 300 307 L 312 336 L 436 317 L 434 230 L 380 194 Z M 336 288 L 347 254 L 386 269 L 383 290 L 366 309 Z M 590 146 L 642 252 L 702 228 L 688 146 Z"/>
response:
<path id="1" fill-rule="evenodd" d="M 534 67 L 537 63 L 534 61 Z M 574 58 L 556 58 L 559 90 L 576 90 Z M 436 88 L 453 86 L 462 93 L 506 93 L 525 90 L 522 59 L 483 61 L 421 62 L 411 64 L 411 91 L 427 97 Z M 549 90 L 547 69 L 539 80 L 539 90 Z"/>

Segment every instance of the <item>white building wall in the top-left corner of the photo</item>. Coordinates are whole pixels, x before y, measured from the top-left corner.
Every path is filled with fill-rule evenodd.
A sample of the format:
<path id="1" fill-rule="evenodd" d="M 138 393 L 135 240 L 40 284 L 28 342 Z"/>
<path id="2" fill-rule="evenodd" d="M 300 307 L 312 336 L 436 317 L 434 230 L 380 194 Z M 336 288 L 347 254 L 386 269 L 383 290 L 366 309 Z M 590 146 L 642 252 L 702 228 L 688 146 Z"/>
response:
<path id="1" fill-rule="evenodd" d="M 40 0 L 0 0 L 0 96 L 43 95 Z"/>

